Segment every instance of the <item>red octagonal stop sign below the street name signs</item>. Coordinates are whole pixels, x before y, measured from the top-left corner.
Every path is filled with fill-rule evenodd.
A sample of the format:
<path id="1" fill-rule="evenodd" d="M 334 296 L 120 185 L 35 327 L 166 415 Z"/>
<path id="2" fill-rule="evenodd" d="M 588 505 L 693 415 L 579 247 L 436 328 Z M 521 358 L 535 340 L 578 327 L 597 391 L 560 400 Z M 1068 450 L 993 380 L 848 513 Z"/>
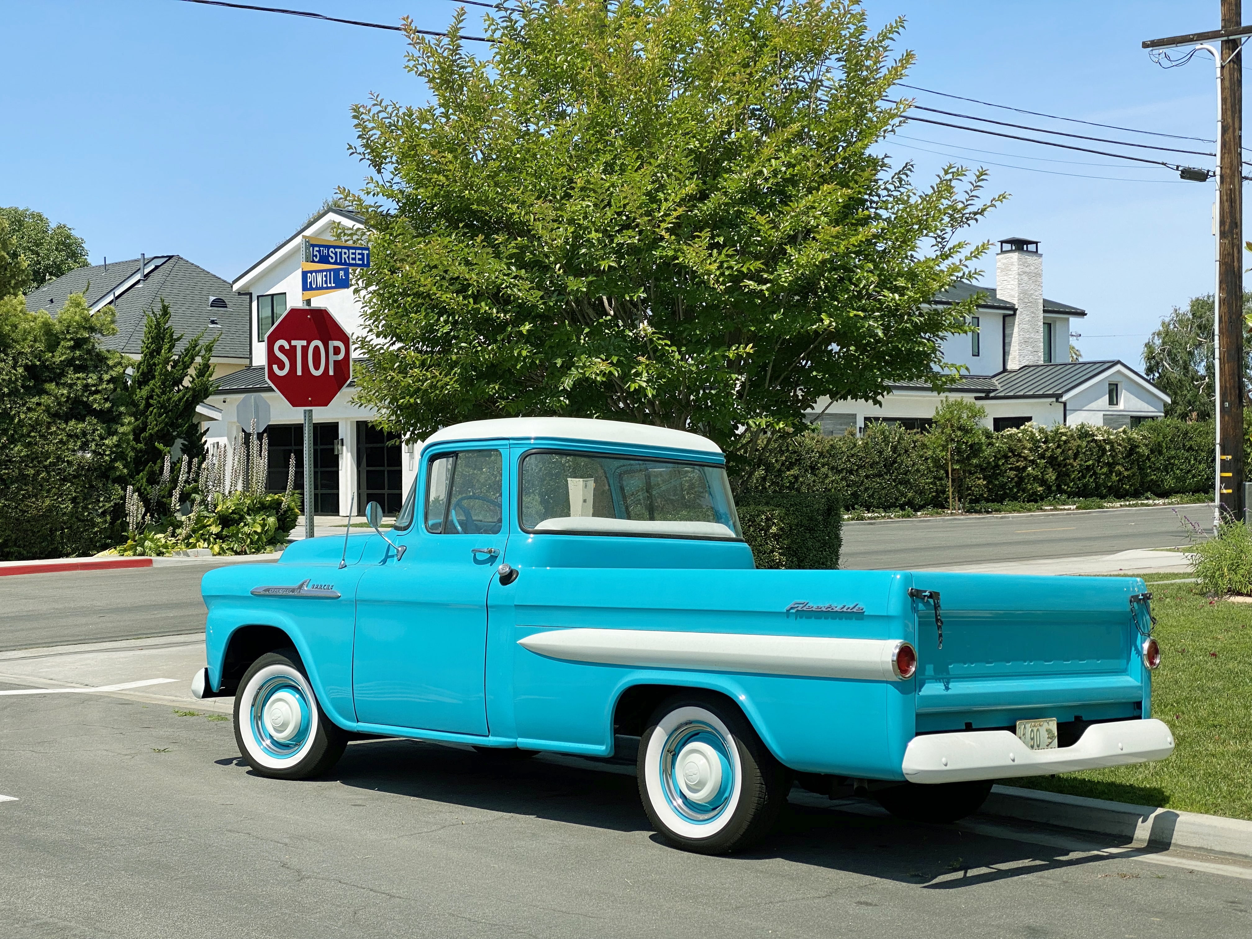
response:
<path id="1" fill-rule="evenodd" d="M 352 341 L 323 307 L 292 307 L 265 334 L 265 377 L 294 408 L 322 408 L 352 378 Z"/>

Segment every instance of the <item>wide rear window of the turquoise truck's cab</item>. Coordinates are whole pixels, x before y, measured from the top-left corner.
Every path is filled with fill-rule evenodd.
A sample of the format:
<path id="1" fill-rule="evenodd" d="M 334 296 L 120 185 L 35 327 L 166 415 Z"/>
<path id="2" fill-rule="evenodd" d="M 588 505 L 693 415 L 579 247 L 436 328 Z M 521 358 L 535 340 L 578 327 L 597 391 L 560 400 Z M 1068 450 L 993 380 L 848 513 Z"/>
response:
<path id="1" fill-rule="evenodd" d="M 742 537 L 725 467 L 671 459 L 527 453 L 521 516 L 530 532 Z"/>

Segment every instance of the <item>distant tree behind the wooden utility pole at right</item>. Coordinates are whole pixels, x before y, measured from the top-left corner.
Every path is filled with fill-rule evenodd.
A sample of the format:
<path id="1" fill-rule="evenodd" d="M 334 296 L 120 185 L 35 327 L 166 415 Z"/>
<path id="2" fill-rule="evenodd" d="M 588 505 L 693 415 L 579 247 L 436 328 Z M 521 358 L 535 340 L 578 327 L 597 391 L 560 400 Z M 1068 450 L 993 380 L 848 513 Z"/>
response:
<path id="1" fill-rule="evenodd" d="M 1243 294 L 1243 348 L 1252 354 L 1252 293 Z M 1252 359 L 1243 374 L 1252 376 Z M 1169 396 L 1166 417 L 1208 421 L 1213 417 L 1213 294 L 1174 307 L 1143 346 L 1143 372 Z"/>

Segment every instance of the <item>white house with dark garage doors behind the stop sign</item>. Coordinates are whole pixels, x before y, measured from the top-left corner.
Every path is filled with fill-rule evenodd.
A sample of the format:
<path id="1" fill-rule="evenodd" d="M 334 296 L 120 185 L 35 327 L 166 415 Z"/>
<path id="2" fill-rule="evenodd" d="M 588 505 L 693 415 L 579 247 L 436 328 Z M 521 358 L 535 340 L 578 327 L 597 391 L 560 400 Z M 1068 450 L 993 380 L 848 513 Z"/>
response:
<path id="1" fill-rule="evenodd" d="M 274 492 L 287 486 L 290 454 L 297 463 L 295 488 L 303 491 L 304 417 L 302 409 L 290 407 L 265 379 L 265 333 L 288 307 L 302 303 L 302 239 L 331 238 L 336 223 L 356 228 L 362 220 L 342 209 L 327 209 L 232 283 L 235 292 L 252 298 L 249 367 L 219 382 L 217 393 L 205 403 L 220 411 L 220 417 L 205 422 L 204 427 L 210 443 L 233 447 L 248 429 L 247 418 L 240 422 L 237 413 L 240 399 L 260 394 L 270 409 L 265 433 L 269 438 L 268 488 Z M 329 309 L 353 342 L 362 334 L 361 304 L 351 289 L 318 297 L 314 303 Z M 368 502 L 378 502 L 384 512 L 394 513 L 417 475 L 413 446 L 372 426 L 369 421 L 377 414 L 357 404 L 356 393 L 356 384 L 349 382 L 328 407 L 317 408 L 313 414 L 313 507 L 317 515 L 347 515 L 349 505 L 356 506 L 354 515 L 362 515 Z"/>

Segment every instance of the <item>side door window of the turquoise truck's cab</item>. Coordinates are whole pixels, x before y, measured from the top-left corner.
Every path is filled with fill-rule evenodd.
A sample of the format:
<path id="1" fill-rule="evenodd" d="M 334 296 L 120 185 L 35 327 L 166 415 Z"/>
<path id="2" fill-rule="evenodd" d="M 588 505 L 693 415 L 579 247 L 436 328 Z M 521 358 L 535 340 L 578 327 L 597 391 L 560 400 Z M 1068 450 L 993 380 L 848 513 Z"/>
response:
<path id="1" fill-rule="evenodd" d="M 498 449 L 463 449 L 432 458 L 426 475 L 426 530 L 436 535 L 498 535 L 503 467 Z"/>

